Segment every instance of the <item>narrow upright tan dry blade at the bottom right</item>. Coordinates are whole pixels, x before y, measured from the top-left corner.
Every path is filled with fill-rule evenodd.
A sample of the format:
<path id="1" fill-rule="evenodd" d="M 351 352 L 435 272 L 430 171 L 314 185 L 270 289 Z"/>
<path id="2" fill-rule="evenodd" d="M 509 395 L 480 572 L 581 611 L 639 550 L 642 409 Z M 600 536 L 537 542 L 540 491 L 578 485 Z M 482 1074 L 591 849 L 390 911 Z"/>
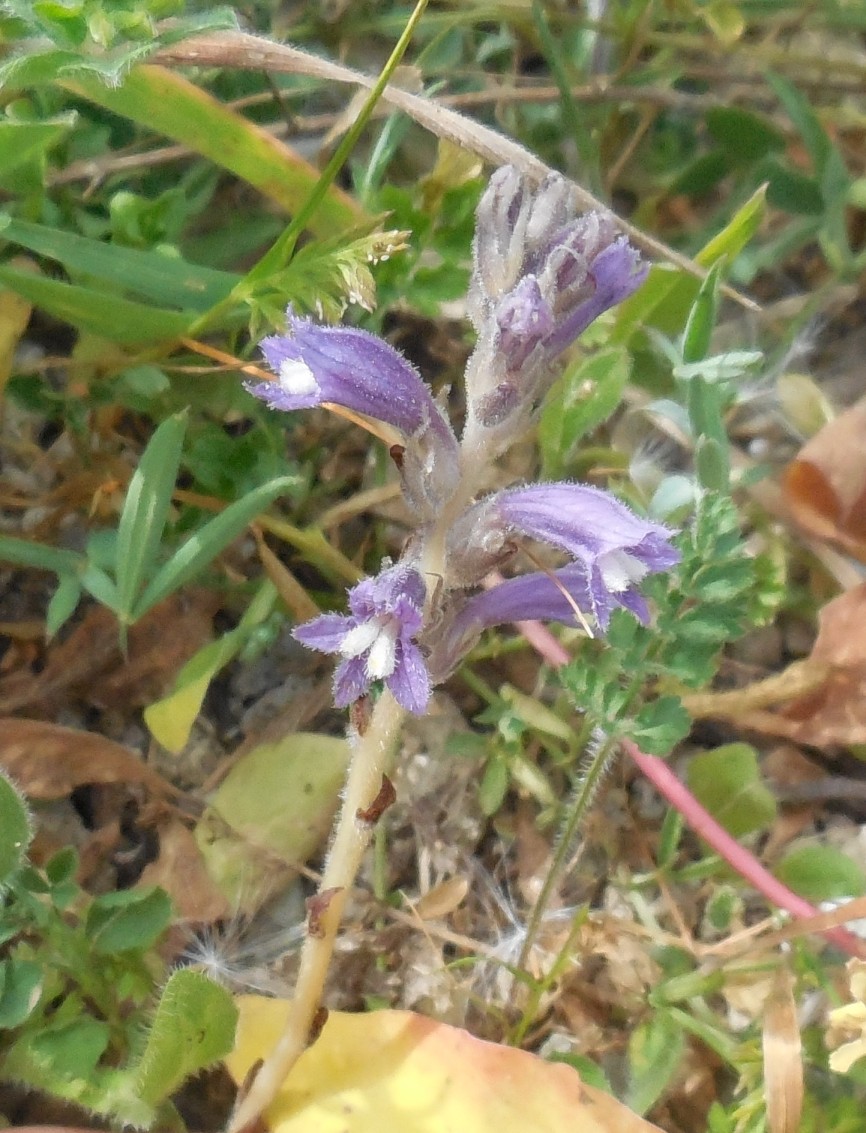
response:
<path id="1" fill-rule="evenodd" d="M 764 1088 L 769 1133 L 797 1133 L 803 1111 L 803 1046 L 793 981 L 780 968 L 764 1013 Z"/>

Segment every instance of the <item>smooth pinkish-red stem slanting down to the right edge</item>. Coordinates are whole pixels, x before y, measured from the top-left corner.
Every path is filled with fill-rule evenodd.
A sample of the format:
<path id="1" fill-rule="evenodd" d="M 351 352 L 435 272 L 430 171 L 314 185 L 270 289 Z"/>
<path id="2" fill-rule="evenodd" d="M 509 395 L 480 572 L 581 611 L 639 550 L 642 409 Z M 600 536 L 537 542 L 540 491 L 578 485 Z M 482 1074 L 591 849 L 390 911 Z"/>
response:
<path id="1" fill-rule="evenodd" d="M 518 622 L 517 625 L 533 648 L 554 668 L 559 668 L 571 659 L 566 649 L 544 625 L 538 622 Z M 724 827 L 716 823 L 710 811 L 701 806 L 688 787 L 680 783 L 662 759 L 648 756 L 631 740 L 623 740 L 622 749 L 637 764 L 656 791 L 668 800 L 674 810 L 682 815 L 691 829 L 771 904 L 784 909 L 795 920 L 808 920 L 818 915 L 818 910 L 813 904 L 798 897 L 796 893 L 791 893 L 788 886 L 782 885 L 778 878 L 773 877 L 753 853 L 731 837 Z M 829 928 L 824 930 L 823 935 L 849 955 L 866 959 L 866 943 L 854 932 L 849 932 L 844 928 Z"/>

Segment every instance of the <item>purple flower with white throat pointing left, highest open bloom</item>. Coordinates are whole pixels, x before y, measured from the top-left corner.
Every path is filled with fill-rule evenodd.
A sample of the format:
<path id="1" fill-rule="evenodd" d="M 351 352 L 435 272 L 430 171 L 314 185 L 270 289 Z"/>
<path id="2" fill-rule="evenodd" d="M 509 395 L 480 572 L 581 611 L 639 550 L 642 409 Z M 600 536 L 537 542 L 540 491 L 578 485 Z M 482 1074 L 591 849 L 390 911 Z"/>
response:
<path id="1" fill-rule="evenodd" d="M 323 402 L 393 425 L 407 437 L 433 429 L 440 443 L 457 451 L 451 426 L 417 370 L 375 334 L 351 326 L 319 326 L 291 307 L 287 334 L 262 341 L 262 353 L 277 382 L 251 382 L 247 389 L 273 409 L 289 412 Z"/>

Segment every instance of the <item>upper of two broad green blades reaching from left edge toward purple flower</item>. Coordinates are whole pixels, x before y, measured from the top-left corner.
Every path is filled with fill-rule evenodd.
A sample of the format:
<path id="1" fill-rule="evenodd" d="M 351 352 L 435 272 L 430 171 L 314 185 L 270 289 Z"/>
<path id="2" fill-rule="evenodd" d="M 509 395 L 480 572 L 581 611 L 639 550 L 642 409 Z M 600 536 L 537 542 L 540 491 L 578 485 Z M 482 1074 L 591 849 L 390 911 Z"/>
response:
<path id="1" fill-rule="evenodd" d="M 0 215 L 0 239 L 19 244 L 39 256 L 48 256 L 70 272 L 93 275 L 160 306 L 181 310 L 207 310 L 224 299 L 240 279 L 159 252 L 88 240 L 75 232 L 14 220 L 9 215 Z"/>

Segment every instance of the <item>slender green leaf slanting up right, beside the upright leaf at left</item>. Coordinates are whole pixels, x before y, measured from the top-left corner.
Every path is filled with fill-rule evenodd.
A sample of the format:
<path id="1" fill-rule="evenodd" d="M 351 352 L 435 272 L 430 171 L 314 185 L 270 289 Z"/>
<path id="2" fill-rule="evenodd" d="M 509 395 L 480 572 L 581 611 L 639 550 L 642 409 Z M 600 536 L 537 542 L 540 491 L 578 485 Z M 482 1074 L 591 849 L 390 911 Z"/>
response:
<path id="1" fill-rule="evenodd" d="M 179 589 L 232 543 L 255 517 L 264 511 L 277 496 L 297 485 L 294 476 L 281 476 L 254 488 L 243 500 L 209 520 L 190 535 L 186 543 L 160 569 L 141 596 L 134 610 L 134 620 L 146 614 L 151 606 L 162 602 Z"/>

